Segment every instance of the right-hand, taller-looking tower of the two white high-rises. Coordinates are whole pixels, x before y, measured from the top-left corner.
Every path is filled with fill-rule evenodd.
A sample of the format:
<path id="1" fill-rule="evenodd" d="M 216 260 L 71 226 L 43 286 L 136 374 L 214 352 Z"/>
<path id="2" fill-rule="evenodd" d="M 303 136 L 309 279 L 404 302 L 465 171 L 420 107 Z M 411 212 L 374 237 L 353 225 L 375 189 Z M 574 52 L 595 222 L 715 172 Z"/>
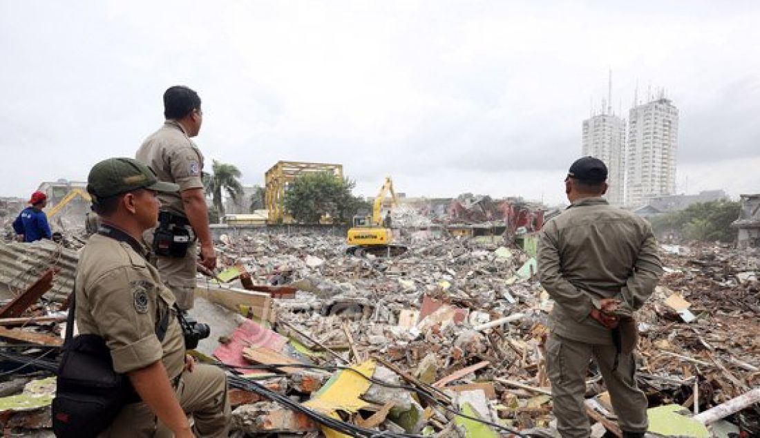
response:
<path id="1" fill-rule="evenodd" d="M 676 193 L 678 109 L 664 97 L 629 113 L 625 205 L 639 207 Z"/>

